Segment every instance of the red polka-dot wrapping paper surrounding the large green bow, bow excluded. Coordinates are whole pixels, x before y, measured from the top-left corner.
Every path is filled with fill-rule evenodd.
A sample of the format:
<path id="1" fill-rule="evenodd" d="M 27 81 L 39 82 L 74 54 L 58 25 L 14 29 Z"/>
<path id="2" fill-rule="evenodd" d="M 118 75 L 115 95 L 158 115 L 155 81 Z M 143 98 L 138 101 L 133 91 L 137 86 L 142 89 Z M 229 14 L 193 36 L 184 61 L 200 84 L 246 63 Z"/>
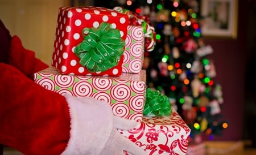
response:
<path id="1" fill-rule="evenodd" d="M 109 23 L 113 28 L 119 29 L 122 39 L 126 39 L 129 17 L 125 14 L 104 7 L 60 7 L 52 54 L 52 66 L 56 67 L 61 74 L 121 75 L 123 57 L 121 57 L 117 66 L 106 71 L 92 73 L 79 63 L 80 59 L 74 53 L 75 47 L 83 40 L 82 29 L 85 27 L 98 28 L 102 22 Z"/>

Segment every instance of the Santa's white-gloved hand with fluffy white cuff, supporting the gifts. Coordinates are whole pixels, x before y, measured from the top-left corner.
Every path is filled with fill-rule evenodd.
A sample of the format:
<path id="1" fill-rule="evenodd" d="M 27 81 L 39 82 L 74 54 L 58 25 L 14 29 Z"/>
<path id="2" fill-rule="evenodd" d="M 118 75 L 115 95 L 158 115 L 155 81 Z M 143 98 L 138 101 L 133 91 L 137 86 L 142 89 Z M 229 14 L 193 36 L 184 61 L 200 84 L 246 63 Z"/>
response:
<path id="1" fill-rule="evenodd" d="M 71 113 L 71 138 L 63 154 L 146 154 L 144 150 L 121 135 L 117 128 L 129 130 L 135 120 L 115 117 L 108 103 L 91 97 L 64 95 Z"/>

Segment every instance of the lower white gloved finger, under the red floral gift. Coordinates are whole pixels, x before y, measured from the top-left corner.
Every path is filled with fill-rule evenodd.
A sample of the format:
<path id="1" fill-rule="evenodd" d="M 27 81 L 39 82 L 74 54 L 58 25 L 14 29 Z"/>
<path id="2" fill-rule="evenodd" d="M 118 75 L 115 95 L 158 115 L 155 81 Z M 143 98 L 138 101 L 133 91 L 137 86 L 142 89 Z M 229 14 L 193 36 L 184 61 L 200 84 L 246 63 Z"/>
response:
<path id="1" fill-rule="evenodd" d="M 126 150 L 130 155 L 147 155 L 143 148 L 127 139 L 127 137 L 121 135 L 118 131 L 114 132 L 113 134 L 113 136 L 117 137 L 117 140 L 114 141 L 115 147 Z"/>

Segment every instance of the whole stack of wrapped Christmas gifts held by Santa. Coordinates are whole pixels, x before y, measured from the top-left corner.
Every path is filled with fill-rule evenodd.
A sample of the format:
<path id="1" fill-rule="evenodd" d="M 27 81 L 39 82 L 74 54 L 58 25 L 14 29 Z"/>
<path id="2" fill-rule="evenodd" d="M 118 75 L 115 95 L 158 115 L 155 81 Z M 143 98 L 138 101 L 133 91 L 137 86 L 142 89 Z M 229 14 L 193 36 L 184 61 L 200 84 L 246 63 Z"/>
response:
<path id="1" fill-rule="evenodd" d="M 117 10 L 60 7 L 52 67 L 36 72 L 34 80 L 60 94 L 105 101 L 114 115 L 137 120 L 133 130 L 118 131 L 148 154 L 185 154 L 190 129 L 174 109 L 170 116 L 143 115 L 143 52 L 154 46 L 144 46 L 143 29 Z"/>

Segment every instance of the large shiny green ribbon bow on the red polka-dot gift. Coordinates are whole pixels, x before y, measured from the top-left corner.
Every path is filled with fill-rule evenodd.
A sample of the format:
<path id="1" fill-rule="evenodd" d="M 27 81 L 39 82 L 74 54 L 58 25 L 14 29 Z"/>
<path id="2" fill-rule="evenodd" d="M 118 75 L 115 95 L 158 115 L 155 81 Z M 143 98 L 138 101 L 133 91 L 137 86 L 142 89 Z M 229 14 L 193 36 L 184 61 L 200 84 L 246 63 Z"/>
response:
<path id="1" fill-rule="evenodd" d="M 89 72 L 106 71 L 117 66 L 125 41 L 120 31 L 102 22 L 98 28 L 82 29 L 84 40 L 75 48 L 79 63 Z"/>

